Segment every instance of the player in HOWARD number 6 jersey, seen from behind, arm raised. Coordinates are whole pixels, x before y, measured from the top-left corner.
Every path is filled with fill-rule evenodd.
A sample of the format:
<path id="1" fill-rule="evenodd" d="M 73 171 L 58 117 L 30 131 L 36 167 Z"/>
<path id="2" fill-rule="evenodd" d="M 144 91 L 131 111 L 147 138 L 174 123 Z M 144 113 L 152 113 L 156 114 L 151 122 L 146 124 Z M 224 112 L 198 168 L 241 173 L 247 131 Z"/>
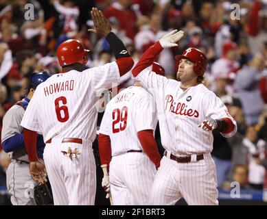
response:
<path id="1" fill-rule="evenodd" d="M 97 8 L 91 10 L 95 34 L 105 36 L 115 62 L 84 70 L 87 51 L 78 40 L 62 42 L 57 49 L 62 73 L 52 75 L 36 90 L 21 125 L 34 180 L 45 177 L 36 156 L 36 131 L 46 143 L 45 167 L 54 205 L 94 205 L 96 176 L 92 142 L 96 135 L 97 101 L 104 89 L 117 86 L 119 77 L 133 66 L 124 44 Z"/>

